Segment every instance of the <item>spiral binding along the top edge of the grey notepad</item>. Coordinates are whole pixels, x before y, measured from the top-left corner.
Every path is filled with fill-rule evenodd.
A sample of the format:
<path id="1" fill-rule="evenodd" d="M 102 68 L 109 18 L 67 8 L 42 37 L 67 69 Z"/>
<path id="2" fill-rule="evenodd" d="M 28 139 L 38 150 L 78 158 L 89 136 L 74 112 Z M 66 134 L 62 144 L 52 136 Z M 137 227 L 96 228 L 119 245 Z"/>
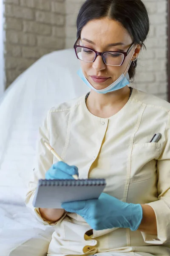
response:
<path id="1" fill-rule="evenodd" d="M 101 186 L 105 184 L 105 179 L 39 180 L 39 186 Z"/>

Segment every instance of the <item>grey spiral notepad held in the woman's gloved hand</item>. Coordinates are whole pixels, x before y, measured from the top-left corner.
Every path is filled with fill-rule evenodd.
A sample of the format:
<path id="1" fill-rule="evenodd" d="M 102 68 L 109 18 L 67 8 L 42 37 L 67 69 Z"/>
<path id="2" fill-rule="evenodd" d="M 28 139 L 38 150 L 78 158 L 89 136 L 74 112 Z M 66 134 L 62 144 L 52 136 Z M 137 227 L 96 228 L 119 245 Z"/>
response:
<path id="1" fill-rule="evenodd" d="M 39 180 L 33 206 L 61 209 L 64 202 L 99 198 L 105 186 L 105 179 Z"/>

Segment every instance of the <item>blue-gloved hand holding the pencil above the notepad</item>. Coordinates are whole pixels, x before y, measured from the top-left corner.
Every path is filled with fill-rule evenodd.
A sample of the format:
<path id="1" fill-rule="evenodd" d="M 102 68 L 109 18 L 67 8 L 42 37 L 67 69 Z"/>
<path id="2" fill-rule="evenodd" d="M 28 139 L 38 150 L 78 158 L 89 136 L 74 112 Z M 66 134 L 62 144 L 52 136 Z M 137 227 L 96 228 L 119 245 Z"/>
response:
<path id="1" fill-rule="evenodd" d="M 66 180 L 73 179 L 72 175 L 79 176 L 77 166 L 69 166 L 64 162 L 54 163 L 51 168 L 45 173 L 46 180 Z"/>

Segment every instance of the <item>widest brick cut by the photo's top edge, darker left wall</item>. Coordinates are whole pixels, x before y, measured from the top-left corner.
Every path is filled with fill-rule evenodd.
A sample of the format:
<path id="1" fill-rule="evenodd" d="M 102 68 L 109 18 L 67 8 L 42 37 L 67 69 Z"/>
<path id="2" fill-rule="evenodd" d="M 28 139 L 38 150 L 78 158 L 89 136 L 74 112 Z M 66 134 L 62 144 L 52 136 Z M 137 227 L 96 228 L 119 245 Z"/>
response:
<path id="1" fill-rule="evenodd" d="M 36 8 L 40 10 L 51 10 L 50 0 L 20 0 L 21 6 Z"/>

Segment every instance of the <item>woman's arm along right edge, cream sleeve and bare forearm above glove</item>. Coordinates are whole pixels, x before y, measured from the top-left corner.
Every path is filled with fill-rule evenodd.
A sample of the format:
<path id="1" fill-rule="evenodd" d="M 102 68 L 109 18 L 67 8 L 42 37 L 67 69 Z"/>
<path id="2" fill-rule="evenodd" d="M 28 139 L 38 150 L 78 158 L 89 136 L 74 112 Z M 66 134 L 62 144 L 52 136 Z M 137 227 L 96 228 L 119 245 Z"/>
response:
<path id="1" fill-rule="evenodd" d="M 139 230 L 148 244 L 170 242 L 170 113 L 168 114 L 166 133 L 162 134 L 164 147 L 157 161 L 158 201 L 142 205 L 144 218 Z"/>

